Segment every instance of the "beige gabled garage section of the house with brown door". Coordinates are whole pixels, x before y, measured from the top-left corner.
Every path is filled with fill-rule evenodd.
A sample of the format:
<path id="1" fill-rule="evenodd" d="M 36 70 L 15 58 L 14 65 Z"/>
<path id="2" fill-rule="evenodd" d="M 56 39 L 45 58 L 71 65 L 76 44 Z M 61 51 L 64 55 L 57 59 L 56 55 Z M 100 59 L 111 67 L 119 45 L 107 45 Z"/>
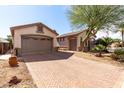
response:
<path id="1" fill-rule="evenodd" d="M 57 47 L 55 30 L 38 22 L 10 28 L 16 55 L 51 52 Z"/>

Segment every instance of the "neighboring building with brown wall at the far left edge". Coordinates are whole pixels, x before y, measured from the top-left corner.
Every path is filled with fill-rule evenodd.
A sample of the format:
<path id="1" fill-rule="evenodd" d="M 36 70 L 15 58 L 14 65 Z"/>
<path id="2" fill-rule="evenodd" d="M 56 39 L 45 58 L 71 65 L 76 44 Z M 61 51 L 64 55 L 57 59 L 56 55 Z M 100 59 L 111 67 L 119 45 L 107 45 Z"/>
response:
<path id="1" fill-rule="evenodd" d="M 0 54 L 4 54 L 9 50 L 9 42 L 0 38 Z"/>

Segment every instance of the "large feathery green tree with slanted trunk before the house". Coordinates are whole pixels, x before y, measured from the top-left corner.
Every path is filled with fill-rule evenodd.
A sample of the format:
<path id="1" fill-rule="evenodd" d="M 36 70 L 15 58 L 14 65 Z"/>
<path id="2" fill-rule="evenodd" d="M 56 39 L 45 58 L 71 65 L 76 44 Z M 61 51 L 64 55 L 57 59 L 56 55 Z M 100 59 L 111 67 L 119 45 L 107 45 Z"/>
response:
<path id="1" fill-rule="evenodd" d="M 119 5 L 71 6 L 68 18 L 76 29 L 87 28 L 87 40 L 101 29 L 117 25 L 124 18 L 124 7 Z M 84 38 L 84 37 L 83 37 Z"/>

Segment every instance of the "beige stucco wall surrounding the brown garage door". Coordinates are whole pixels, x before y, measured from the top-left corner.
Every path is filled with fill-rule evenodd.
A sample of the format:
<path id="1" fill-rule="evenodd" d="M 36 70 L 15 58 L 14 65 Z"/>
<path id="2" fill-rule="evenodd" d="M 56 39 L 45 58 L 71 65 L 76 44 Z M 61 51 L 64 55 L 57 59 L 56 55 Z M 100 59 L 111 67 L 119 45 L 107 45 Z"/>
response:
<path id="1" fill-rule="evenodd" d="M 23 29 L 15 30 L 14 35 L 14 48 L 21 48 L 21 35 L 34 34 L 34 35 L 46 35 L 53 38 L 53 46 L 57 46 L 56 34 L 49 31 L 49 29 L 43 27 L 44 33 L 37 33 L 37 26 L 27 27 Z"/>

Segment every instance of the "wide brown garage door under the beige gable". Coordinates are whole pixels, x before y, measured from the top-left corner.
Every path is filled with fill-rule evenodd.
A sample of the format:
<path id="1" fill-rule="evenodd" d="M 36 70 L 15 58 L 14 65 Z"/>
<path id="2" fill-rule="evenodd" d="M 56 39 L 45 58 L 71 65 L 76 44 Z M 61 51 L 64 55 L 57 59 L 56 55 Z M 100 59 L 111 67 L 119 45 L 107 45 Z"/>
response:
<path id="1" fill-rule="evenodd" d="M 22 55 L 52 51 L 52 39 L 47 37 L 22 37 Z"/>

